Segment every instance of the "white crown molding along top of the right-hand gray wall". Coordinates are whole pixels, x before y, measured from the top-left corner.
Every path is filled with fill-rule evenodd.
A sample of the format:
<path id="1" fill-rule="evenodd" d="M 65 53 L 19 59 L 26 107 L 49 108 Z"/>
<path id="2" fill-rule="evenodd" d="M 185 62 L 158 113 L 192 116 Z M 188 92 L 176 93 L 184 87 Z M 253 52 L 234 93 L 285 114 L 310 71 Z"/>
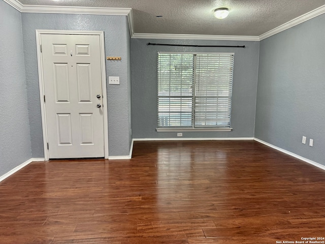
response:
<path id="1" fill-rule="evenodd" d="M 318 15 L 321 15 L 325 13 L 325 5 L 320 6 L 317 9 L 314 9 L 306 14 L 303 14 L 293 20 L 290 20 L 274 29 L 271 29 L 271 31 L 264 33 L 263 35 L 259 36 L 259 40 L 262 41 L 268 37 L 271 37 L 275 34 L 278 34 L 279 32 L 283 32 L 288 28 L 294 27 L 295 25 L 301 24 L 309 19 L 315 18 Z"/>

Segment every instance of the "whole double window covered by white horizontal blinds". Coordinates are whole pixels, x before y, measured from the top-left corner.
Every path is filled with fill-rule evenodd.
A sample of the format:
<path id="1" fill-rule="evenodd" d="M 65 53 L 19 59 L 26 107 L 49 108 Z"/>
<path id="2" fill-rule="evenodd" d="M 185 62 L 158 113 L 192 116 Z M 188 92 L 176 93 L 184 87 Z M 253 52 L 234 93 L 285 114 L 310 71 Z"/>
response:
<path id="1" fill-rule="evenodd" d="M 230 131 L 234 53 L 158 53 L 158 128 Z"/>

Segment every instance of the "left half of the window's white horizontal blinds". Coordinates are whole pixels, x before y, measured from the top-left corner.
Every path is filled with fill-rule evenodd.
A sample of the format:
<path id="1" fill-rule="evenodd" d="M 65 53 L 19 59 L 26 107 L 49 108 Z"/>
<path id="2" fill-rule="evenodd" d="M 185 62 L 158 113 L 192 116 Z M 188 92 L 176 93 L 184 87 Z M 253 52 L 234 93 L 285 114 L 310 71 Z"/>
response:
<path id="1" fill-rule="evenodd" d="M 158 127 L 192 127 L 193 55 L 158 54 Z"/>

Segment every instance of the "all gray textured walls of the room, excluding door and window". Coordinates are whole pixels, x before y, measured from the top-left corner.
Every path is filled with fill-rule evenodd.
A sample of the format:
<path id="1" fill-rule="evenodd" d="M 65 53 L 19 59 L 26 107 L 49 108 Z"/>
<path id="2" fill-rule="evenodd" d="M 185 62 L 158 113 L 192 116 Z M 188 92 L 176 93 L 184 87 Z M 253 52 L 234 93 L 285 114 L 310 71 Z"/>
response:
<path id="1" fill-rule="evenodd" d="M 128 155 L 132 137 L 176 137 L 155 131 L 158 51 L 235 52 L 234 130 L 186 132 L 183 137 L 253 137 L 255 126 L 256 138 L 325 165 L 325 15 L 260 43 L 130 39 L 125 16 L 20 14 L 3 1 L 0 17 L 0 176 L 32 157 L 44 157 L 35 29 L 104 31 L 106 56 L 122 57 L 106 61 L 107 77 L 120 76 L 121 83 L 107 85 L 110 156 Z M 148 42 L 246 48 L 147 46 Z M 303 135 L 306 145 L 301 143 Z M 313 147 L 308 146 L 309 138 L 314 139 Z"/>

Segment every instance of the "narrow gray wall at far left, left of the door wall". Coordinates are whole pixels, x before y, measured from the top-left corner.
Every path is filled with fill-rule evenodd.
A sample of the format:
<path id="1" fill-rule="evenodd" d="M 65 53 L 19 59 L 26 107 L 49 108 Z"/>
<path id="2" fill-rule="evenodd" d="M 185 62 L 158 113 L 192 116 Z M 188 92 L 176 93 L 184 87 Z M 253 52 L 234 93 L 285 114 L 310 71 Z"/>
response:
<path id="1" fill-rule="evenodd" d="M 0 1 L 0 176 L 31 158 L 21 14 Z"/>

